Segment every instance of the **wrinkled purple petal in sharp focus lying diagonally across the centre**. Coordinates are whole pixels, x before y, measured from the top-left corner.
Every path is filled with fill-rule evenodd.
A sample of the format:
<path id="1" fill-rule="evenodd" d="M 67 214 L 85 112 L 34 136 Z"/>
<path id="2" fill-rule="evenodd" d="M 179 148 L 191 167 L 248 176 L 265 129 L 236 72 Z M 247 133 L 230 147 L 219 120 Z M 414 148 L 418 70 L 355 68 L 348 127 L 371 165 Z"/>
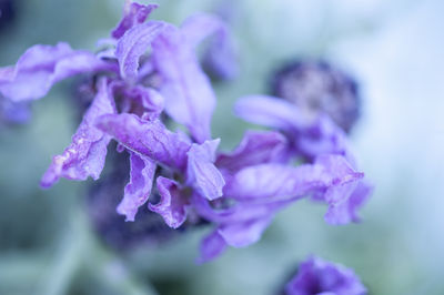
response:
<path id="1" fill-rule="evenodd" d="M 99 118 L 97 126 L 133 152 L 167 166 L 185 170 L 190 143 L 158 120 L 147 121 L 127 113 L 110 114 Z"/>

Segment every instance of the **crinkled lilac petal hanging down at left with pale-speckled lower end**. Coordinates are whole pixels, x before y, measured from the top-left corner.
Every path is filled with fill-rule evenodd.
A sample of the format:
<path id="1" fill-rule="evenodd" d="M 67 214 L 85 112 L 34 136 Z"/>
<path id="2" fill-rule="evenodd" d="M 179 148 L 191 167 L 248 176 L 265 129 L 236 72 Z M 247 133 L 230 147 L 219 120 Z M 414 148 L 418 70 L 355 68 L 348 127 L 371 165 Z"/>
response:
<path id="1" fill-rule="evenodd" d="M 72 143 L 61 155 L 53 157 L 51 165 L 42 176 L 42 186 L 51 186 L 59 177 L 85 180 L 91 176 L 94 180 L 99 179 L 111 138 L 97 129 L 94 121 L 100 115 L 115 113 L 115 106 L 105 79 L 99 81 L 98 88 L 98 94 L 72 136 Z"/>

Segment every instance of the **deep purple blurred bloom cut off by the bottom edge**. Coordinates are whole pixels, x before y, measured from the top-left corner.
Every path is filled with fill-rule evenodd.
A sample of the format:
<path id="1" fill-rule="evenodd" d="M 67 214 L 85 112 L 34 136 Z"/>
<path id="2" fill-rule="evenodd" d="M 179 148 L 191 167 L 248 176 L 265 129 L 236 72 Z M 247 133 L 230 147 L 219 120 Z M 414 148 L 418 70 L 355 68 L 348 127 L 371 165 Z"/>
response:
<path id="1" fill-rule="evenodd" d="M 286 295 L 365 295 L 357 275 L 343 265 L 319 257 L 301 263 L 297 274 L 286 284 Z"/>

